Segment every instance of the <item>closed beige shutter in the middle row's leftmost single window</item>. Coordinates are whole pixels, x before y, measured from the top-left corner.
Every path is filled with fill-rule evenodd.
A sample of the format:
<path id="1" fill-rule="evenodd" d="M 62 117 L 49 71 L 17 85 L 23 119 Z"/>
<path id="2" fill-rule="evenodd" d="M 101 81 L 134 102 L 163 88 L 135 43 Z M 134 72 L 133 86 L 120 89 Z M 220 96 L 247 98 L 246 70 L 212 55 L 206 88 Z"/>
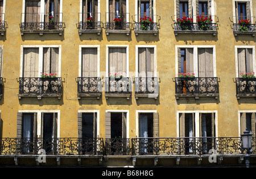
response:
<path id="1" fill-rule="evenodd" d="M 97 77 L 97 48 L 82 48 L 82 77 Z"/>

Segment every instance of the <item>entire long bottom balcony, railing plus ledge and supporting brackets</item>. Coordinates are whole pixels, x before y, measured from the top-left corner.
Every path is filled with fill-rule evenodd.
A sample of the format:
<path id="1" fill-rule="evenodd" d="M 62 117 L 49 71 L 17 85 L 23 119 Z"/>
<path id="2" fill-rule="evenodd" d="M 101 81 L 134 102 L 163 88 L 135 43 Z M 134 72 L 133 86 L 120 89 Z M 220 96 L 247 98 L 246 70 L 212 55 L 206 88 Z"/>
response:
<path id="1" fill-rule="evenodd" d="M 242 164 L 246 151 L 242 149 L 241 137 L 189 137 L 189 138 L 131 138 L 131 139 L 104 139 L 103 138 L 1 138 L 0 157 L 13 157 L 15 165 L 19 165 L 18 159 L 35 159 L 39 165 L 39 154 L 43 152 L 47 159 L 56 157 L 57 165 L 60 158 L 77 159 L 81 163 L 81 157 L 98 159 L 102 162 L 113 158 L 123 157 L 128 161 L 132 158 L 133 166 L 138 160 L 152 159 L 154 165 L 160 163 L 159 159 L 176 161 L 180 159 L 209 161 L 209 156 L 214 151 L 218 164 L 222 160 L 237 159 Z M 251 157 L 256 156 L 255 136 L 252 138 Z M 74 161 L 74 160 L 72 160 Z M 10 162 L 10 160 L 8 160 Z M 216 161 L 217 162 L 217 161 Z M 166 164 L 166 163 L 165 163 Z M 236 163 L 237 164 L 237 163 Z"/>

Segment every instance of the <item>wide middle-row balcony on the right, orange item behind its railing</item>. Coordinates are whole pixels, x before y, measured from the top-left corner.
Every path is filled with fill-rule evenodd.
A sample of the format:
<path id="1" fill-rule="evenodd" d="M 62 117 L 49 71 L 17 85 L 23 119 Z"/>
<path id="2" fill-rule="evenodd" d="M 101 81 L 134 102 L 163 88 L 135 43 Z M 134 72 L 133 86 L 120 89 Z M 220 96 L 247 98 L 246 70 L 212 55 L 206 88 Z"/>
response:
<path id="1" fill-rule="evenodd" d="M 175 78 L 175 96 L 179 97 L 214 97 L 218 99 L 217 77 Z"/>

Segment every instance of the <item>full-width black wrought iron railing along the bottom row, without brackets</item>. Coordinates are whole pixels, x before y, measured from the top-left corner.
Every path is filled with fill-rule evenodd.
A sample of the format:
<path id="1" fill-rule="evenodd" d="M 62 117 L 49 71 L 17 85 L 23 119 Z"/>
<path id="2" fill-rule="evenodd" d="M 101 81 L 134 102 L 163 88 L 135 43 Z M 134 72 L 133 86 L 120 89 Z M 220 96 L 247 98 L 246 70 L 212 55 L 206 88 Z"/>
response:
<path id="1" fill-rule="evenodd" d="M 240 156 L 246 153 L 241 137 L 200 138 L 1 138 L 0 156 L 38 155 L 130 155 L 130 156 L 189 156 L 212 154 Z M 255 136 L 252 155 L 256 154 Z"/>

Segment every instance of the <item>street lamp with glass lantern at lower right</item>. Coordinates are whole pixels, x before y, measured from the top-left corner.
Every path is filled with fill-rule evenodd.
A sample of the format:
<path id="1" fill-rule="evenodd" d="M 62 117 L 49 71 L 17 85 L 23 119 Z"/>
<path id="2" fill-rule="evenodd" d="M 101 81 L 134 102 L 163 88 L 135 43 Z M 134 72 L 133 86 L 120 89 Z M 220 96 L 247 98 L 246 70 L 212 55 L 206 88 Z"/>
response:
<path id="1" fill-rule="evenodd" d="M 247 131 L 247 128 L 243 132 L 243 134 L 241 135 L 241 137 L 242 137 L 242 147 L 243 147 L 243 149 L 247 150 L 246 155 L 245 155 L 246 168 L 249 168 L 249 166 L 250 166 L 251 136 L 252 136 L 252 134 L 250 134 L 250 131 Z"/>

